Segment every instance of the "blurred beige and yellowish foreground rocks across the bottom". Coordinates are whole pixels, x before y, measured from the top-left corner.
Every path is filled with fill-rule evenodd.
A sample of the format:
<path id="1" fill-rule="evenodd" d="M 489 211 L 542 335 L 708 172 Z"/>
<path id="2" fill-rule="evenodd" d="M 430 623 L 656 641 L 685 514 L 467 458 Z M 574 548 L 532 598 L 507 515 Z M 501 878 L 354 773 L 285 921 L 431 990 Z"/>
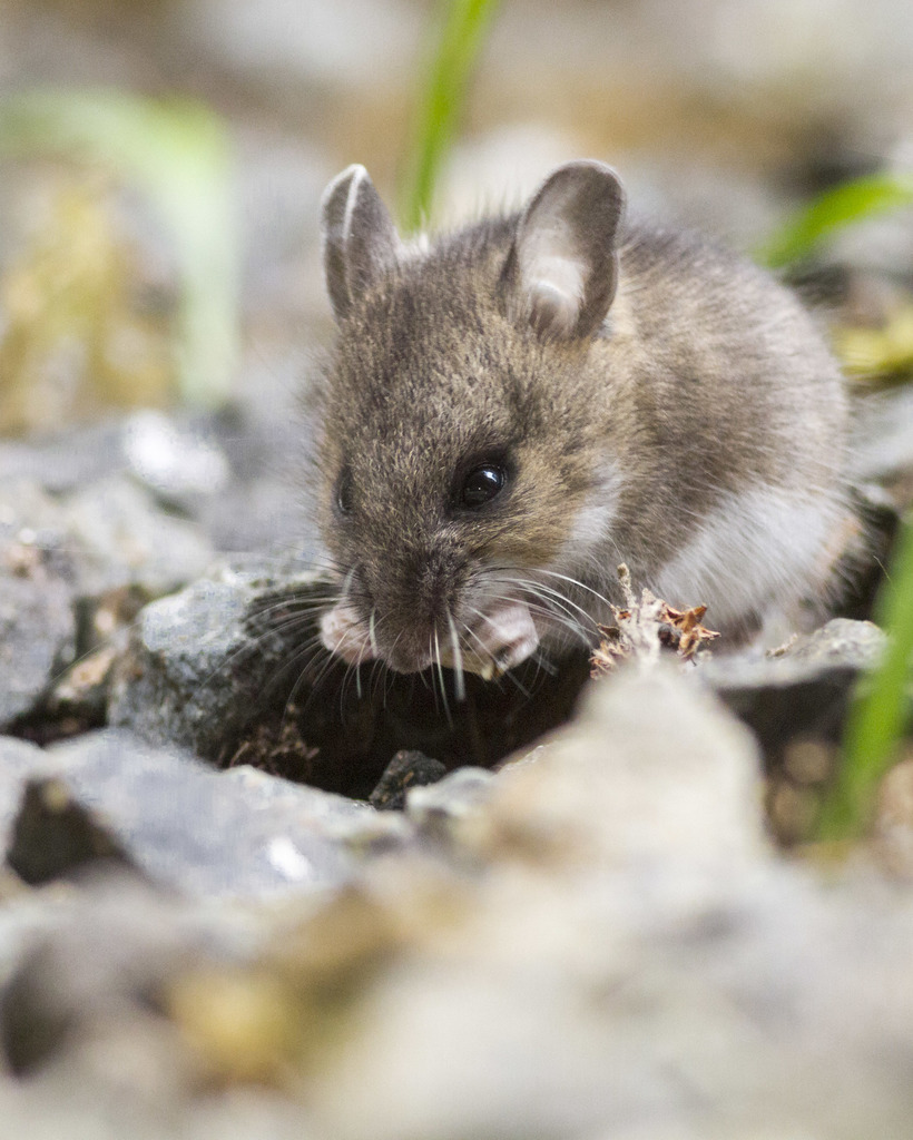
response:
<path id="1" fill-rule="evenodd" d="M 91 748 L 117 741 L 133 748 Z M 36 751 L 18 746 L 21 771 Z M 67 757 L 75 776 L 72 749 L 49 754 Z M 304 817 L 259 780 L 279 790 L 254 785 L 264 812 Z M 361 809 L 337 840 L 354 872 L 328 891 L 201 905 L 130 878 L 10 885 L 0 1033 L 27 1078 L 0 1077 L 5 1127 L 906 1140 L 908 891 L 776 856 L 759 789 L 751 734 L 693 676 L 629 669 L 499 773 L 414 789 L 405 815 Z M 237 817 L 189 800 L 241 873 Z M 383 820 L 397 841 L 378 847 Z"/>

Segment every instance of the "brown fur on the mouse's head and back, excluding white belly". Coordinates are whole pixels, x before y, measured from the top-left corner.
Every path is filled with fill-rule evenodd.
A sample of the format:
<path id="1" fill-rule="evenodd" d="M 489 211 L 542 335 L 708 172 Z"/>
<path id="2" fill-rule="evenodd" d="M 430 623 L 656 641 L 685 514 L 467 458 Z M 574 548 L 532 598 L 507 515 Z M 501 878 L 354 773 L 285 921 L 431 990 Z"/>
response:
<path id="1" fill-rule="evenodd" d="M 614 243 L 618 293 L 604 324 L 554 334 L 516 303 L 523 217 L 375 258 L 369 274 L 351 271 L 357 288 L 336 278 L 319 523 L 341 576 L 354 568 L 351 601 L 366 621 L 374 610 L 398 667 L 433 632 L 446 636 L 445 610 L 467 620 L 480 568 L 556 564 L 606 461 L 622 477 L 611 534 L 581 551 L 573 576 L 611 596 L 618 561 L 650 585 L 726 495 L 807 489 L 822 511 L 839 498 L 840 381 L 791 295 L 702 238 L 633 221 Z M 389 231 L 383 241 L 386 250 Z M 492 454 L 508 488 L 460 510 L 460 474 Z M 349 514 L 337 507 L 343 469 Z M 707 602 L 712 616 L 712 597 L 669 601 Z M 745 611 L 729 625 L 753 620 Z"/>

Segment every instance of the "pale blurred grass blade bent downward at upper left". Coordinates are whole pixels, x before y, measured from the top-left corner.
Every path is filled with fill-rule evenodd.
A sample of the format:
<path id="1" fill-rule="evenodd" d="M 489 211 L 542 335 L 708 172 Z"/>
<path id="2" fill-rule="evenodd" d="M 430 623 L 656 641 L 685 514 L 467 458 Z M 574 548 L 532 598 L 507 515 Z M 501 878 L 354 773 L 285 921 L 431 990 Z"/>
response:
<path id="1" fill-rule="evenodd" d="M 238 352 L 238 229 L 221 120 L 190 99 L 33 90 L 0 99 L 0 154 L 63 155 L 136 185 L 179 259 L 178 376 L 196 405 L 225 401 Z"/>

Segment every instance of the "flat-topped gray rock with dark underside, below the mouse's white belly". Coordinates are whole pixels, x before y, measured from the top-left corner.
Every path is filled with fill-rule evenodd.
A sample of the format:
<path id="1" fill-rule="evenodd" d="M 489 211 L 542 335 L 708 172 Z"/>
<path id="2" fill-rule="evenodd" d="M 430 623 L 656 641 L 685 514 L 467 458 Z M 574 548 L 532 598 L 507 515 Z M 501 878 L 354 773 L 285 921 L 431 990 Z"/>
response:
<path id="1" fill-rule="evenodd" d="M 834 618 L 764 657 L 755 652 L 703 661 L 701 681 L 755 732 L 769 766 L 797 736 L 839 739 L 856 677 L 874 668 L 885 634 L 871 621 Z"/>

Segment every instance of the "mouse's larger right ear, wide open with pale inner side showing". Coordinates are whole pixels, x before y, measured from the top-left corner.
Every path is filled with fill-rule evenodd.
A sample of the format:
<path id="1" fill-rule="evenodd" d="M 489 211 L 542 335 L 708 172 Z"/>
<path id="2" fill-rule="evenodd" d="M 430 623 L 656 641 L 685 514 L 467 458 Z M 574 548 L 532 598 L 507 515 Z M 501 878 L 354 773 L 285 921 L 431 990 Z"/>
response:
<path id="1" fill-rule="evenodd" d="M 616 295 L 625 192 L 601 162 L 559 166 L 523 211 L 505 264 L 508 310 L 545 336 L 594 333 Z"/>

